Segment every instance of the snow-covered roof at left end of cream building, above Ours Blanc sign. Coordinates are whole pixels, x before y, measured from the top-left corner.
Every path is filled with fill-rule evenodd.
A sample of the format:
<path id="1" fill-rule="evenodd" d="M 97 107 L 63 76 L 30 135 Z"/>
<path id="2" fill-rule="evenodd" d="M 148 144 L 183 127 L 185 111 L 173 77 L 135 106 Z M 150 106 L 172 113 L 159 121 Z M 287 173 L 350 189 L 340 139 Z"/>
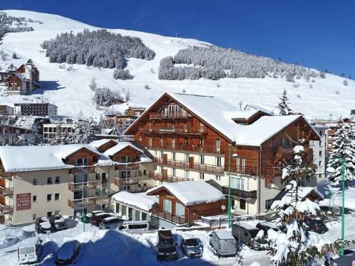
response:
<path id="1" fill-rule="evenodd" d="M 0 146 L 0 158 L 6 172 L 68 169 L 74 167 L 63 162 L 77 150 L 87 148 L 101 155 L 90 145 Z"/>

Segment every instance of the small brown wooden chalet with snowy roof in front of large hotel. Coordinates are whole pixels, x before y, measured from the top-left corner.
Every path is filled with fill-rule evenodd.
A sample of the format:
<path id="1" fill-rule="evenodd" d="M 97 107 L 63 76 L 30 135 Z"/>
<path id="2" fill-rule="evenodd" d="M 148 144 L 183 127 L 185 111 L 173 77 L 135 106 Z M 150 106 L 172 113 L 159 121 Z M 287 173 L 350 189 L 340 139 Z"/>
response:
<path id="1" fill-rule="evenodd" d="M 152 216 L 159 218 L 159 227 L 191 224 L 199 216 L 222 214 L 226 197 L 204 181 L 165 183 L 148 190 L 148 196 L 159 197 Z"/>

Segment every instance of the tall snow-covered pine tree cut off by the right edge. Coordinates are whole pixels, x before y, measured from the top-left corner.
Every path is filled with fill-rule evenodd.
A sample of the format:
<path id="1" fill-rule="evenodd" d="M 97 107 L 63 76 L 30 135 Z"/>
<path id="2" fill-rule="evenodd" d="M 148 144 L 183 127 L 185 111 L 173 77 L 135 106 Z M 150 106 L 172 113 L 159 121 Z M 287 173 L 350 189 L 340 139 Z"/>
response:
<path id="1" fill-rule="evenodd" d="M 345 160 L 345 180 L 355 180 L 354 128 L 354 123 L 344 123 L 344 121 L 340 121 L 339 128 L 334 134 L 332 150 L 327 165 L 327 172 L 332 173 L 329 179 L 334 182 L 342 181 L 343 159 Z"/>

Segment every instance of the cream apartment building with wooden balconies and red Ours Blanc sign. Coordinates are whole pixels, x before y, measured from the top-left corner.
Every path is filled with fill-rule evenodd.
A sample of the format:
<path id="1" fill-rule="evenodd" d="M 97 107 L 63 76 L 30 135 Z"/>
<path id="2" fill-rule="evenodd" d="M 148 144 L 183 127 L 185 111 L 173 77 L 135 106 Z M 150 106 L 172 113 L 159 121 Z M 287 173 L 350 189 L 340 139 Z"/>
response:
<path id="1" fill-rule="evenodd" d="M 116 192 L 144 192 L 148 153 L 130 142 L 0 147 L 0 221 L 107 209 Z"/>

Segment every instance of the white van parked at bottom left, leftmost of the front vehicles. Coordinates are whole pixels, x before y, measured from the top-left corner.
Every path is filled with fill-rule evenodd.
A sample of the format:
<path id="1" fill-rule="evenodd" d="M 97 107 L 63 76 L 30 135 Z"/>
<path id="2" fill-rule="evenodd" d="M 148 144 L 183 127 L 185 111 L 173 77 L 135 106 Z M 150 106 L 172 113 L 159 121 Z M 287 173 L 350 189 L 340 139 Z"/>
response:
<path id="1" fill-rule="evenodd" d="M 22 240 L 17 249 L 18 264 L 38 262 L 42 249 L 42 240 L 38 237 Z"/>

